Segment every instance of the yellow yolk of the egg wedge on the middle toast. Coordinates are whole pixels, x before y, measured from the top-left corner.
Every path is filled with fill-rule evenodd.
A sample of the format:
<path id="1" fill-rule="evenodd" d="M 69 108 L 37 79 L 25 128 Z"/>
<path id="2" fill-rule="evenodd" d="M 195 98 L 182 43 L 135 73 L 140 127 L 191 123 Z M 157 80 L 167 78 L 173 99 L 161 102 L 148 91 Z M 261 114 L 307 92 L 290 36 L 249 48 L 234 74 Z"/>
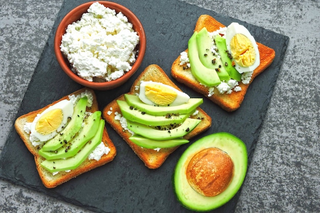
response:
<path id="1" fill-rule="evenodd" d="M 145 86 L 145 95 L 150 101 L 160 106 L 170 105 L 177 97 L 175 91 L 159 84 L 147 84 Z"/>

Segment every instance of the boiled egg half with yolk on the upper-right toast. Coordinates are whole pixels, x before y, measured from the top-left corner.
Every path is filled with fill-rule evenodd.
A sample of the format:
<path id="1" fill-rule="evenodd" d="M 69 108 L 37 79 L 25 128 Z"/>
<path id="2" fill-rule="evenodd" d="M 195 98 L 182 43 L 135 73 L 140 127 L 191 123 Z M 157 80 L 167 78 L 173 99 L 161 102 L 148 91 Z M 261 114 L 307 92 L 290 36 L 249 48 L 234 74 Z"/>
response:
<path id="1" fill-rule="evenodd" d="M 260 64 L 260 54 L 255 38 L 237 22 L 226 28 L 225 42 L 239 73 L 252 72 Z"/>

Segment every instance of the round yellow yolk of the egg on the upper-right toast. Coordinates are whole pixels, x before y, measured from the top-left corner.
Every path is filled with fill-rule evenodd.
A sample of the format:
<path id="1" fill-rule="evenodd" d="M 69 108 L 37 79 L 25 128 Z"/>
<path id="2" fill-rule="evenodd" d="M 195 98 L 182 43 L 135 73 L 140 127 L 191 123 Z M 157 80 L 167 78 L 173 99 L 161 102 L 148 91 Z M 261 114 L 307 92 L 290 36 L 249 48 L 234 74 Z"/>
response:
<path id="1" fill-rule="evenodd" d="M 253 43 L 243 34 L 236 34 L 230 41 L 232 57 L 243 67 L 251 66 L 256 60 Z"/>

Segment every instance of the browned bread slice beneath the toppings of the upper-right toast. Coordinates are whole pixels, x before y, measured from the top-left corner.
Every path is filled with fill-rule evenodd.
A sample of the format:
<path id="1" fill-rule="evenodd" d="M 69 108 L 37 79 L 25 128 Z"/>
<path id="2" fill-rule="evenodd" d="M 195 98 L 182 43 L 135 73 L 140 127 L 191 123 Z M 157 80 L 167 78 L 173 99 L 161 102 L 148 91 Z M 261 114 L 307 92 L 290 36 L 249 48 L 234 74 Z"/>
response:
<path id="1" fill-rule="evenodd" d="M 199 32 L 202 28 L 207 28 L 209 32 L 218 30 L 220 27 L 225 27 L 222 23 L 218 22 L 216 19 L 210 15 L 201 15 L 197 22 L 194 31 Z M 239 86 L 242 88 L 241 91 L 233 91 L 231 94 L 220 94 L 215 88 L 214 94 L 209 95 L 209 87 L 200 84 L 198 80 L 192 75 L 191 69 L 186 68 L 186 65 L 180 65 L 180 56 L 173 62 L 171 67 L 171 75 L 179 82 L 193 88 L 197 92 L 208 97 L 211 101 L 219 105 L 226 111 L 234 111 L 238 109 L 244 99 L 245 93 L 252 83 L 252 81 L 265 70 L 273 61 L 276 56 L 275 50 L 268 48 L 267 46 L 258 43 L 258 50 L 260 53 L 260 65 L 254 70 L 252 78 L 249 84 L 243 84 L 239 82 Z M 188 52 L 188 49 L 186 50 Z"/>

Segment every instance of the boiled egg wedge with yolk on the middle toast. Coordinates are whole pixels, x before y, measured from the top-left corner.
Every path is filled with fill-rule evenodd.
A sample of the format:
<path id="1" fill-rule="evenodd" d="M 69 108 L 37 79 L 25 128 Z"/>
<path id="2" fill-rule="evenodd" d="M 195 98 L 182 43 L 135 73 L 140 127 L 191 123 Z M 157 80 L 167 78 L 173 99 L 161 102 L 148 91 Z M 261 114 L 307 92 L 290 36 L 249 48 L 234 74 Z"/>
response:
<path id="1" fill-rule="evenodd" d="M 155 106 L 177 106 L 187 103 L 188 94 L 167 84 L 153 81 L 141 81 L 139 98 L 142 102 Z"/>

